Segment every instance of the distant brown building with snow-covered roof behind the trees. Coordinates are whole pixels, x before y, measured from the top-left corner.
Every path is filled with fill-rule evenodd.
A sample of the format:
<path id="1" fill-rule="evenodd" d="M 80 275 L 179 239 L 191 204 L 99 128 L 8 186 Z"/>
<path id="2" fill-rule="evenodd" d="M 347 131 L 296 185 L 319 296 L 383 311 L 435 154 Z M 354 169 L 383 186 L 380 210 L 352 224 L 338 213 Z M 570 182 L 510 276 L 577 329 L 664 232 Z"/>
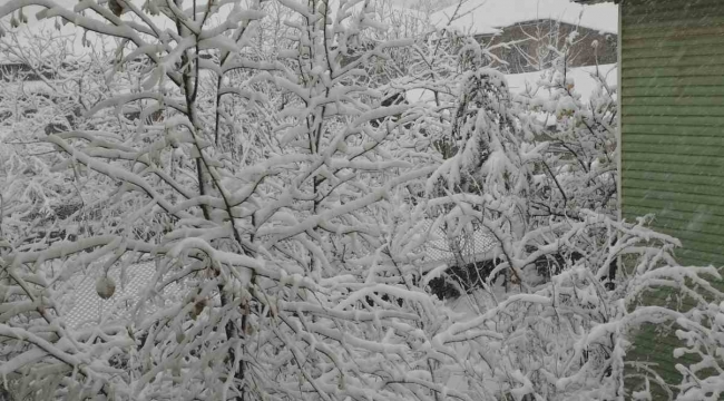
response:
<path id="1" fill-rule="evenodd" d="M 550 67 L 557 56 L 554 49 L 562 49 L 567 39 L 571 40 L 569 67 L 616 62 L 615 4 L 584 9 L 569 0 L 477 0 L 460 8 L 448 7 L 434 13 L 432 21 L 438 27 L 473 35 L 502 61 L 493 66 L 506 74 Z"/>

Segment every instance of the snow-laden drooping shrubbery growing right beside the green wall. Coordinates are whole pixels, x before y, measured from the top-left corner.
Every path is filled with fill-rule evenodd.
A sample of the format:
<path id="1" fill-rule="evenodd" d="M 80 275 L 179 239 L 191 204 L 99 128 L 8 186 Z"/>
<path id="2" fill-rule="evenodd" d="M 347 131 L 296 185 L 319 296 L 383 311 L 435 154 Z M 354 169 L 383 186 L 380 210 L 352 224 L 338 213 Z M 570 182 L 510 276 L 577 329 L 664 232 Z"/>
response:
<path id="1" fill-rule="evenodd" d="M 681 319 L 686 327 L 702 319 L 701 311 L 640 306 L 645 294 L 662 286 L 676 296 L 698 292 L 694 300 L 711 311 L 705 300 L 721 294 L 706 280 L 718 274 L 678 266 L 671 253 L 677 241 L 645 229 L 648 219 L 616 223 L 616 88 L 597 71 L 598 87 L 581 101 L 566 56 L 562 49 L 538 87 L 515 98 L 496 71 L 464 74 L 457 114 L 438 141 L 444 144 L 438 147 L 444 162 L 428 192 L 436 196 L 430 204 L 441 225 L 472 227 L 496 239 L 488 254 L 496 267 L 482 262 L 477 276 L 468 272 L 487 277 L 487 284 L 478 280 L 482 290 L 463 299 L 463 307 L 477 314 L 509 319 L 509 331 L 499 331 L 509 339 L 496 355 L 500 360 L 486 359 L 500 371 L 493 382 L 507 383 L 502 391 L 513 399 L 620 399 L 625 378 L 645 380 L 624 370 L 638 366 L 624 355 L 643 324 Z M 449 268 L 452 275 L 470 262 L 462 261 Z M 495 312 L 499 304 L 507 310 Z M 506 324 L 498 320 L 493 326 Z M 692 340 L 701 334 L 678 335 L 688 335 L 686 352 L 701 352 Z M 695 394 L 691 399 L 699 397 L 695 374 L 686 378 L 683 389 L 695 388 L 687 390 Z"/>

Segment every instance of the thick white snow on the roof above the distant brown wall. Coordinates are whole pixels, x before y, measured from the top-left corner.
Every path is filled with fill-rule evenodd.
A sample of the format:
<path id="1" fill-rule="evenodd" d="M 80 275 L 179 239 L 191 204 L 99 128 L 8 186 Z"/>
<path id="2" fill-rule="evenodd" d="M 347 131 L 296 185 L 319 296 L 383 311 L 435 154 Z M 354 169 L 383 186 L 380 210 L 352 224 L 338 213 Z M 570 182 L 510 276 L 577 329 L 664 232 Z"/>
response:
<path id="1" fill-rule="evenodd" d="M 432 16 L 438 27 L 447 26 L 458 6 Z M 607 33 L 618 32 L 618 6 L 581 6 L 571 0 L 471 0 L 457 13 L 451 27 L 466 33 L 496 33 L 500 28 L 538 19 L 552 19 Z"/>

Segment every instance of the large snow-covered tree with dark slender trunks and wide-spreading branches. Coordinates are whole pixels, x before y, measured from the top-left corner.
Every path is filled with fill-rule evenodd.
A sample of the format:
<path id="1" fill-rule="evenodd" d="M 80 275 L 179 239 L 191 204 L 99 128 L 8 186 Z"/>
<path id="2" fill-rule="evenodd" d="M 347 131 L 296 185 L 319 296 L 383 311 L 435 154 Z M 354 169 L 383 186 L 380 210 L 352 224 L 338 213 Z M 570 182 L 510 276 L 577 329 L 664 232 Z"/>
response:
<path id="1" fill-rule="evenodd" d="M 395 399 L 400 389 L 370 380 L 394 371 L 389 358 L 409 358 L 400 335 L 417 317 L 359 303 L 411 297 L 434 310 L 369 268 L 385 247 L 381 200 L 432 168 L 387 146 L 408 135 L 389 117 L 415 117 L 408 105 L 378 107 L 382 92 L 364 77 L 407 41 L 362 43 L 382 27 L 359 1 L 280 1 L 290 17 L 274 40 L 288 48 L 275 59 L 247 51 L 266 43 L 253 40 L 263 4 L 10 1 L 0 14 L 29 4 L 120 45 L 106 96 L 85 114 L 97 124 L 46 139 L 67 155 L 58 170 L 92 183 L 78 197 L 101 192 L 100 227 L 4 244 L 3 376 L 35 398 Z M 157 271 L 133 319 L 119 310 L 89 329 L 65 324 L 75 275 L 100 271 L 109 297 L 123 283 L 102 272 L 144 255 Z"/>

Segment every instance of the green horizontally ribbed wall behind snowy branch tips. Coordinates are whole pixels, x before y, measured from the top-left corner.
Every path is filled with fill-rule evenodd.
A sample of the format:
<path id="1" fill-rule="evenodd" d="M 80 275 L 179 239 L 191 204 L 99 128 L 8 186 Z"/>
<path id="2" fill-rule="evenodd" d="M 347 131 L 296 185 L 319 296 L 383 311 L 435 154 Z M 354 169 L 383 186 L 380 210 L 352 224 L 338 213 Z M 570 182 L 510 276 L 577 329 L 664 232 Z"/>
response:
<path id="1" fill-rule="evenodd" d="M 724 1 L 624 0 L 620 35 L 623 216 L 653 213 L 681 263 L 724 266 Z M 676 340 L 654 333 L 629 359 L 678 383 Z"/>

